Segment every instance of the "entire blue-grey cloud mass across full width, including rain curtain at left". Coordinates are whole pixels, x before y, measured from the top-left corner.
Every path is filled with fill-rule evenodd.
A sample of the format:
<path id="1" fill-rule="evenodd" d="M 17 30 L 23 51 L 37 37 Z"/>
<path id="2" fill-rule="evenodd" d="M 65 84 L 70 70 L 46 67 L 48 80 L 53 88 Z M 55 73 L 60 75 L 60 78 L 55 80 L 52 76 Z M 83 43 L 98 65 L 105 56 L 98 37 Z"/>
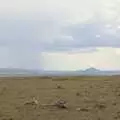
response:
<path id="1" fill-rule="evenodd" d="M 2 67 L 40 68 L 42 51 L 81 49 L 79 52 L 94 52 L 100 46 L 120 47 L 119 35 L 117 38 L 104 33 L 102 23 L 64 27 L 62 22 L 53 19 L 1 20 L 0 26 L 0 53 L 4 54 L 1 55 Z M 96 38 L 96 34 L 101 37 Z M 93 49 L 88 49 L 91 47 Z"/>

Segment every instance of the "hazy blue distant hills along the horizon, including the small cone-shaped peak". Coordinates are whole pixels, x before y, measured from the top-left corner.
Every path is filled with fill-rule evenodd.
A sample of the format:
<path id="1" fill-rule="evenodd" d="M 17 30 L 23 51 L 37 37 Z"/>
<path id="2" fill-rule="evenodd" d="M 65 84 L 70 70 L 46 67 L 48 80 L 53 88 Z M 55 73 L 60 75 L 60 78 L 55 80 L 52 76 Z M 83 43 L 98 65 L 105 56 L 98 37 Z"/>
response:
<path id="1" fill-rule="evenodd" d="M 120 75 L 120 71 L 102 71 L 96 68 L 87 68 L 77 71 L 45 71 L 29 70 L 19 68 L 0 68 L 0 76 L 99 76 L 99 75 Z"/>

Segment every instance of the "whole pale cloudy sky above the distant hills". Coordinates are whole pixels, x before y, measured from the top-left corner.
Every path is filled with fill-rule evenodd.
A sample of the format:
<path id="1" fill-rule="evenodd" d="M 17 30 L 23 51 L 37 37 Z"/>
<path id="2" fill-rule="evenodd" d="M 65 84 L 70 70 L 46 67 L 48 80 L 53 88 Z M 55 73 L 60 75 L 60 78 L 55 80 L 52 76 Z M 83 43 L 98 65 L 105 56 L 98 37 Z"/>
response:
<path id="1" fill-rule="evenodd" d="M 1 0 L 0 68 L 120 70 L 119 0 Z"/>

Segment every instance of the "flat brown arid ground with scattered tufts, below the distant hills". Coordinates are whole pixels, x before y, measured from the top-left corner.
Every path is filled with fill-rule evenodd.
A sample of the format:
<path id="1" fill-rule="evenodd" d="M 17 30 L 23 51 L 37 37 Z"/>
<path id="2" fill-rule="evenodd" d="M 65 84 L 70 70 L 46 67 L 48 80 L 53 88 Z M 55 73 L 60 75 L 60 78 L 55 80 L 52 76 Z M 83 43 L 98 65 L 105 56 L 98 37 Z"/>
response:
<path id="1" fill-rule="evenodd" d="M 120 120 L 120 76 L 0 78 L 0 120 Z"/>

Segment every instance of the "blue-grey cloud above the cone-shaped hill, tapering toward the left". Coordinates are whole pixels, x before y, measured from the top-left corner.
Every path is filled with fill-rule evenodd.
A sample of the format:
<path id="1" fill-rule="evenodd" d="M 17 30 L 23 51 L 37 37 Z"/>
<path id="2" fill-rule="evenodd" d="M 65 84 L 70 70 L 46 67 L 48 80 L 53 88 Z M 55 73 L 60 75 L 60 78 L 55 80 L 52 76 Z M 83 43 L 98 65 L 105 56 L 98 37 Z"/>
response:
<path id="1" fill-rule="evenodd" d="M 104 23 L 76 24 L 63 28 L 63 34 L 70 36 L 57 38 L 55 42 L 49 45 L 48 50 L 70 51 L 72 49 L 83 49 L 89 47 L 120 47 L 120 31 L 116 35 L 105 32 Z M 100 37 L 96 37 L 100 35 Z"/>

